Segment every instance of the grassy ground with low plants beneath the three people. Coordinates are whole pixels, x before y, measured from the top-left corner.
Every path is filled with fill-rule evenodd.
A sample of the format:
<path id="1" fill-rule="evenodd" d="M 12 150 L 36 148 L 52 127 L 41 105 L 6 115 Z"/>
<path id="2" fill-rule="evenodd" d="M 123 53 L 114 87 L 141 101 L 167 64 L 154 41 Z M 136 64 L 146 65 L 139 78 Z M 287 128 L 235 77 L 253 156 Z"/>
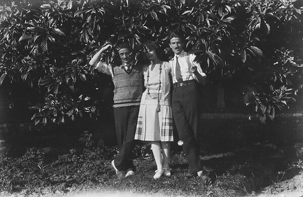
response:
<path id="1" fill-rule="evenodd" d="M 212 178 L 209 185 L 184 178 L 187 162 L 175 143 L 171 177 L 154 180 L 151 152 L 148 146 L 138 145 L 134 149 L 137 174 L 119 180 L 110 165 L 117 148 L 93 148 L 87 143 L 93 142 L 90 135 L 84 136 L 88 139 L 85 147 L 78 141 L 80 135 L 66 131 L 7 137 L 6 142 L 12 143 L 7 144 L 10 152 L 2 155 L 0 164 L 2 194 L 71 196 L 119 191 L 131 196 L 254 196 L 302 186 L 295 182 L 302 175 L 303 163 L 294 145 L 303 142 L 303 120 L 276 119 L 266 125 L 218 119 L 202 123 L 200 159 Z"/>

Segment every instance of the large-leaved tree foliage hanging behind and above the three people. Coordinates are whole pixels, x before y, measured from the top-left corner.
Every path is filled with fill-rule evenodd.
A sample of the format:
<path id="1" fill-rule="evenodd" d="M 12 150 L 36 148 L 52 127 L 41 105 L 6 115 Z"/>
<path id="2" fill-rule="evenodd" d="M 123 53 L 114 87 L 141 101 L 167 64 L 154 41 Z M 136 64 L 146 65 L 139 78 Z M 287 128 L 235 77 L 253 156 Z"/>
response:
<path id="1" fill-rule="evenodd" d="M 25 81 L 40 91 L 45 100 L 37 103 L 35 123 L 96 117 L 113 87 L 88 65 L 92 55 L 121 41 L 139 54 L 152 40 L 170 56 L 168 35 L 182 31 L 209 81 L 238 80 L 247 105 L 265 122 L 303 84 L 301 6 L 295 0 L 6 0 L 0 85 Z M 116 57 L 111 49 L 102 58 Z"/>

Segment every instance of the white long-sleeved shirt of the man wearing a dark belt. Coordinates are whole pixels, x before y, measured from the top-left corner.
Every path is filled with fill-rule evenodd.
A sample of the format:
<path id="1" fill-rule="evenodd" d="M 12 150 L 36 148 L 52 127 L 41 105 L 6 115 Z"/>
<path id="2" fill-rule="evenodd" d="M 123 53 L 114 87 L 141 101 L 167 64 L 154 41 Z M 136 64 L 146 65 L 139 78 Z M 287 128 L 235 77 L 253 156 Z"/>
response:
<path id="1" fill-rule="evenodd" d="M 183 81 L 188 81 L 188 80 L 196 80 L 195 75 L 190 72 L 190 68 L 192 66 L 195 66 L 197 68 L 197 72 L 201 76 L 206 76 L 205 73 L 203 73 L 200 64 L 194 61 L 195 55 L 194 54 L 187 54 L 184 50 L 179 53 L 178 55 L 175 54 L 174 58 L 172 58 L 169 62 L 171 64 L 172 68 L 172 76 L 173 76 L 173 83 L 176 83 L 176 56 L 178 57 L 178 62 L 180 64 L 180 69 L 181 69 L 181 76 Z"/>

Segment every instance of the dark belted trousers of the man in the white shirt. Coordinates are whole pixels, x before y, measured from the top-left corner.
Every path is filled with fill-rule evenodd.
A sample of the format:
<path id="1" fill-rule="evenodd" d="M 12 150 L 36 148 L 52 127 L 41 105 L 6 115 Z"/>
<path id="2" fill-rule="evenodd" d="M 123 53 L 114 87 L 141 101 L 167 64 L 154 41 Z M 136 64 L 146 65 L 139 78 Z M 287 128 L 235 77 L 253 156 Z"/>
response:
<path id="1" fill-rule="evenodd" d="M 202 170 L 197 141 L 200 121 L 199 94 L 196 83 L 175 87 L 172 96 L 172 112 L 179 139 L 188 161 L 189 172 Z"/>

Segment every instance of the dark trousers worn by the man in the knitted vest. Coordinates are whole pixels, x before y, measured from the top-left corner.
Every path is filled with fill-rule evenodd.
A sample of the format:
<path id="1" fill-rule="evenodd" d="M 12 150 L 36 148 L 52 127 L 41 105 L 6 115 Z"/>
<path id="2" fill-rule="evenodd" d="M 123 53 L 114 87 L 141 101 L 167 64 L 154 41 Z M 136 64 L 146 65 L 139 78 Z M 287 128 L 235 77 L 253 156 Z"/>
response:
<path id="1" fill-rule="evenodd" d="M 120 148 L 119 154 L 114 162 L 119 171 L 136 170 L 132 161 L 132 150 L 134 147 L 138 114 L 139 106 L 114 108 L 116 134 Z"/>

